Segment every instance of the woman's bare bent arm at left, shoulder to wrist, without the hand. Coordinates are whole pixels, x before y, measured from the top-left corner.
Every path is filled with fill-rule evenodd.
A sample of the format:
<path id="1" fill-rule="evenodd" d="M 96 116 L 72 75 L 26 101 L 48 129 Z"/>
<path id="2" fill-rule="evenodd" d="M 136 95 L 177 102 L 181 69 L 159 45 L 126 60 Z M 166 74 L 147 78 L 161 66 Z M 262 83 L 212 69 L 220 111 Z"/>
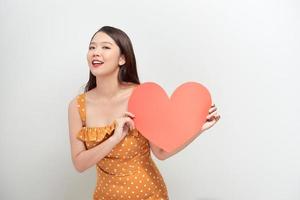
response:
<path id="1" fill-rule="evenodd" d="M 118 143 L 117 140 L 110 137 L 94 148 L 86 150 L 84 143 L 76 138 L 76 134 L 82 128 L 76 99 L 69 103 L 68 120 L 72 162 L 78 172 L 83 172 L 98 163 Z"/>

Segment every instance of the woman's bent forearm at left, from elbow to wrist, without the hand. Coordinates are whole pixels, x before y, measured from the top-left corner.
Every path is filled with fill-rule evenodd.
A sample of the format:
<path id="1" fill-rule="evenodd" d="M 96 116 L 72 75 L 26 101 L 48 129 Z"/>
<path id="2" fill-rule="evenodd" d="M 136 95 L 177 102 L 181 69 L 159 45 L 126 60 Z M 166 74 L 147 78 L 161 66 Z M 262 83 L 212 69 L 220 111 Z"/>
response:
<path id="1" fill-rule="evenodd" d="M 116 144 L 117 141 L 110 137 L 101 144 L 81 152 L 75 160 L 77 171 L 83 172 L 97 164 L 101 159 L 111 152 Z"/>

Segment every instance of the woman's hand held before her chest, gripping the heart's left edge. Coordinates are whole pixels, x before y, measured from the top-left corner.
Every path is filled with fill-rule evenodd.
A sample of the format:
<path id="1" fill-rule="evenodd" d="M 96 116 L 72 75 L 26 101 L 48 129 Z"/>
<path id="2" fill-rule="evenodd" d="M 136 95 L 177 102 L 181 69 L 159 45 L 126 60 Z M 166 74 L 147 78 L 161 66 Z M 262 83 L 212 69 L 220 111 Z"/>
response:
<path id="1" fill-rule="evenodd" d="M 129 129 L 132 130 L 135 128 L 132 120 L 134 117 L 134 114 L 125 112 L 122 117 L 116 119 L 115 131 L 111 136 L 116 143 L 119 143 L 128 134 Z"/>

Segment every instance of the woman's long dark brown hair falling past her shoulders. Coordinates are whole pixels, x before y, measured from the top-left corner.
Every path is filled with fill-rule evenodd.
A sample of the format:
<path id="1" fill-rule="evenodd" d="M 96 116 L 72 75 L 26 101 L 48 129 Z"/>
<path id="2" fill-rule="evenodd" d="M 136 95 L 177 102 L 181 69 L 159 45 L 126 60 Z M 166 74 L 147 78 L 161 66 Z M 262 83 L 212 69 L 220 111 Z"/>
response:
<path id="1" fill-rule="evenodd" d="M 109 35 L 116 42 L 116 44 L 120 48 L 121 54 L 123 54 L 125 57 L 125 64 L 119 66 L 120 70 L 118 74 L 118 80 L 120 82 L 125 81 L 125 82 L 140 84 L 139 77 L 137 74 L 137 69 L 136 69 L 135 55 L 134 55 L 132 43 L 128 35 L 124 31 L 118 28 L 111 27 L 111 26 L 103 26 L 96 33 L 94 33 L 94 35 L 90 40 L 90 43 L 98 32 L 104 32 L 107 35 Z M 90 77 L 85 86 L 84 92 L 87 92 L 95 88 L 96 86 L 97 86 L 96 76 L 94 76 L 90 71 Z"/>

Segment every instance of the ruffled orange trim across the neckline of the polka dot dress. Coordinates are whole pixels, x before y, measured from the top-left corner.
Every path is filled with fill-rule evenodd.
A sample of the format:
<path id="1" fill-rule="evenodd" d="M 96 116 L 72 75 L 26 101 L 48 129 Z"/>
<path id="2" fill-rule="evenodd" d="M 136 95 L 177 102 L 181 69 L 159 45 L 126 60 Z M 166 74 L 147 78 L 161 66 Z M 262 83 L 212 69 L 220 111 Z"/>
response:
<path id="1" fill-rule="evenodd" d="M 101 142 L 104 138 L 113 135 L 116 128 L 116 121 L 103 127 L 82 127 L 76 138 L 84 142 Z M 138 136 L 138 130 L 133 129 L 129 132 L 134 136 Z"/>

